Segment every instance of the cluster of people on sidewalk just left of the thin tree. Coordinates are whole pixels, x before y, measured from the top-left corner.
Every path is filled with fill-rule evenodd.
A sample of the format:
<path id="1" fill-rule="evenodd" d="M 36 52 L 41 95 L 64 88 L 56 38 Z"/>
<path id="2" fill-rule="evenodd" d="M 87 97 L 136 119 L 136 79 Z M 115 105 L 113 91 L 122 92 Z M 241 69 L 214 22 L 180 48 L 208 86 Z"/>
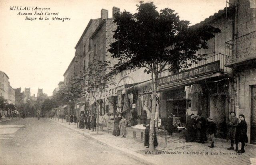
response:
<path id="1" fill-rule="evenodd" d="M 96 131 L 96 117 L 94 114 L 91 115 L 90 112 L 88 114 L 80 114 L 79 117 L 79 128 L 92 130 L 92 132 Z"/>

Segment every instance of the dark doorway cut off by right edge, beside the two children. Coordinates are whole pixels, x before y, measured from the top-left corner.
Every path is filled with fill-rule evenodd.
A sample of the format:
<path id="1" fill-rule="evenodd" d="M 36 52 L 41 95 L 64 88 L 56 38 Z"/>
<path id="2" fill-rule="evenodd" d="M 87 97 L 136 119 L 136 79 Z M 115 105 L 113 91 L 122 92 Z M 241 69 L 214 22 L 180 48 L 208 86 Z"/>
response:
<path id="1" fill-rule="evenodd" d="M 251 143 L 256 144 L 256 85 L 251 90 Z"/>

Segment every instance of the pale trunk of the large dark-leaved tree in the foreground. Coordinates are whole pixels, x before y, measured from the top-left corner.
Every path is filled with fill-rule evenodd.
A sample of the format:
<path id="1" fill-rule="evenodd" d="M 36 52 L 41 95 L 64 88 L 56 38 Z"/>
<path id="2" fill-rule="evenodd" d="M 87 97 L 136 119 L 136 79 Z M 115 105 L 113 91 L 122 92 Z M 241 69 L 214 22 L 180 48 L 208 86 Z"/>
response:
<path id="1" fill-rule="evenodd" d="M 156 113 L 156 91 L 157 91 L 157 80 L 158 75 L 156 72 L 151 73 L 152 78 L 152 86 L 153 86 L 153 100 L 152 100 L 152 109 L 151 109 L 151 117 L 150 117 L 150 131 L 149 131 L 149 146 L 150 150 L 154 150 L 154 126 L 155 126 L 155 113 Z"/>

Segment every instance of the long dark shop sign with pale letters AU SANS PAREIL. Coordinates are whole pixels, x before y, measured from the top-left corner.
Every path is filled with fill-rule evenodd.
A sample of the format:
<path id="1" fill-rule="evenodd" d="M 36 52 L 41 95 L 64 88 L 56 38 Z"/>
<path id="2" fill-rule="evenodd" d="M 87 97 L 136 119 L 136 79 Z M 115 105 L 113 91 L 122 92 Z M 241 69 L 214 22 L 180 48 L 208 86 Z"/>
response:
<path id="1" fill-rule="evenodd" d="M 195 68 L 189 69 L 187 71 L 183 71 L 180 73 L 162 77 L 158 80 L 158 85 L 163 85 L 163 84 L 173 83 L 176 81 L 190 79 L 193 77 L 198 77 L 198 76 L 216 72 L 219 70 L 220 70 L 220 61 L 215 61 L 213 63 L 208 63 L 206 65 L 202 65 L 200 67 L 195 67 Z"/>

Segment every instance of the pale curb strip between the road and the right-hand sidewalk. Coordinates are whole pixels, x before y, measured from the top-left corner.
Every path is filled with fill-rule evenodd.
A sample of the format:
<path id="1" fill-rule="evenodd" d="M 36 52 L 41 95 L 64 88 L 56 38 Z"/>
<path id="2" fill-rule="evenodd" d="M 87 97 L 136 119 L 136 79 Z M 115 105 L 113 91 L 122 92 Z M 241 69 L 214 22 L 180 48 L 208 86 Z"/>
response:
<path id="1" fill-rule="evenodd" d="M 54 120 L 51 120 L 51 119 L 49 119 L 49 120 L 52 121 L 52 122 L 55 122 L 55 123 L 57 123 L 57 124 L 60 124 L 60 123 L 58 123 L 57 121 L 54 121 Z M 129 152 L 129 151 L 127 151 L 127 149 L 120 148 L 120 147 L 118 147 L 118 146 L 116 146 L 116 145 L 114 145 L 114 146 L 109 145 L 108 143 L 105 143 L 105 142 L 100 141 L 100 140 L 98 140 L 98 139 L 96 139 L 96 138 L 93 138 L 92 136 L 90 136 L 90 135 L 88 135 L 88 134 L 85 134 L 85 133 L 83 133 L 83 132 L 80 132 L 79 130 L 76 130 L 75 128 L 70 128 L 69 126 L 65 126 L 65 125 L 62 125 L 62 124 L 60 124 L 60 125 L 66 127 L 66 128 L 68 128 L 68 129 L 70 129 L 70 130 L 76 131 L 76 132 L 78 132 L 79 134 L 85 136 L 86 138 L 91 139 L 91 140 L 94 140 L 94 141 L 96 141 L 97 143 L 99 143 L 99 144 L 101 144 L 101 145 L 105 145 L 105 146 L 107 146 L 107 147 L 111 147 L 111 148 L 113 148 L 113 149 L 115 149 L 115 150 L 121 151 L 121 152 L 124 153 L 126 156 L 131 157 L 132 159 L 135 159 L 135 160 L 140 161 L 140 162 L 142 162 L 142 163 L 145 163 L 145 164 L 147 164 L 147 165 L 156 165 L 155 163 L 152 163 L 152 162 L 150 162 L 150 161 L 148 161 L 148 160 L 146 160 L 146 159 L 144 159 L 144 158 L 142 158 L 142 157 L 139 157 L 139 156 L 138 156 L 139 153 L 136 153 L 136 152 L 134 152 L 134 151 L 130 151 L 130 152 Z"/>

